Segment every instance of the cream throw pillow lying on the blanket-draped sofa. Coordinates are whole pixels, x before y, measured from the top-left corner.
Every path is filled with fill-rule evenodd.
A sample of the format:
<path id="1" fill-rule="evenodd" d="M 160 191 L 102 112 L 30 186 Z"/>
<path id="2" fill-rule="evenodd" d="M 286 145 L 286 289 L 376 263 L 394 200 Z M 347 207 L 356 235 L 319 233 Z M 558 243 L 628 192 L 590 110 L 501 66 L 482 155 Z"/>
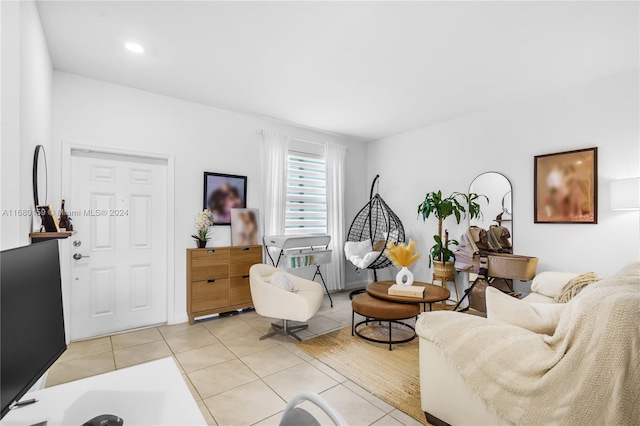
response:
<path id="1" fill-rule="evenodd" d="M 487 318 L 516 325 L 534 333 L 553 335 L 566 304 L 527 303 L 487 287 Z"/>

